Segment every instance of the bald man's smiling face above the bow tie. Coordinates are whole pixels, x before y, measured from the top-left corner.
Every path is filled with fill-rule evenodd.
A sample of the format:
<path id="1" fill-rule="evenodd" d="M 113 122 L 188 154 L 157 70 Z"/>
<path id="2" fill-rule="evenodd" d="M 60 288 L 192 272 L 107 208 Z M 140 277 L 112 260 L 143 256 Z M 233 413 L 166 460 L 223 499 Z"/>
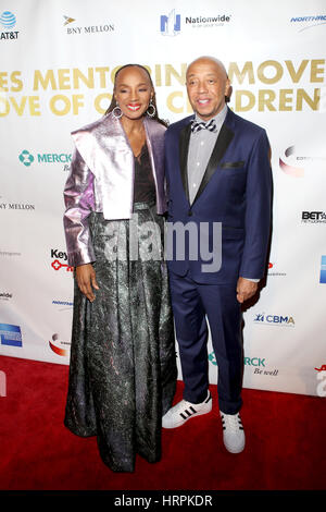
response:
<path id="1" fill-rule="evenodd" d="M 198 59 L 187 71 L 189 101 L 203 121 L 221 112 L 229 85 L 225 71 L 213 60 Z"/>

